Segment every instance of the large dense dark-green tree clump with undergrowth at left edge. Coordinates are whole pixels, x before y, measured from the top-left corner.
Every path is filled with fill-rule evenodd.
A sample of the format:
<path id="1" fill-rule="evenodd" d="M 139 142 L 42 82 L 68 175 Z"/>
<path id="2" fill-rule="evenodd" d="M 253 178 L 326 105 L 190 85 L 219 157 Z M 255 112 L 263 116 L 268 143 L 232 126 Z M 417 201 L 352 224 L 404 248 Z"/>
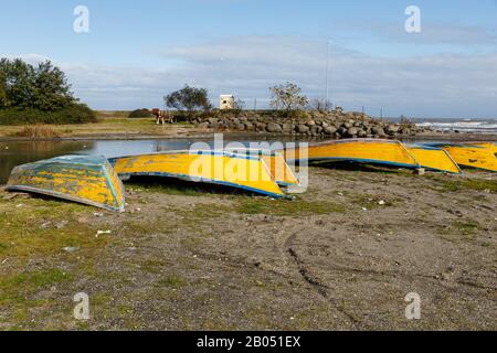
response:
<path id="1" fill-rule="evenodd" d="M 0 125 L 95 121 L 95 113 L 78 103 L 65 74 L 50 61 L 33 66 L 0 60 Z"/>

